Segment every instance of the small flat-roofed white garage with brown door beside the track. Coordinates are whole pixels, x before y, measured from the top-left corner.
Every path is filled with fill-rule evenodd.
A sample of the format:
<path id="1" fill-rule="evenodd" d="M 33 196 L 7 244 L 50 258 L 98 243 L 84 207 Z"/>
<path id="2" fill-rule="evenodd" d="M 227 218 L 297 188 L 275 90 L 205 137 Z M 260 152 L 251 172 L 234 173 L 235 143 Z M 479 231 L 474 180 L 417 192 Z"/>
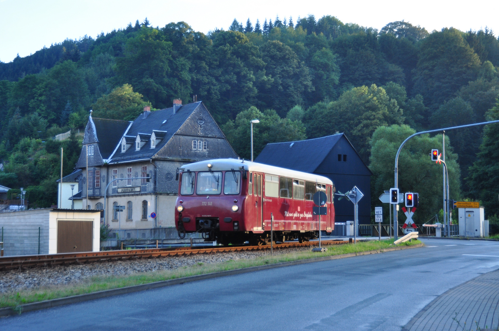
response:
<path id="1" fill-rule="evenodd" d="M 0 229 L 4 256 L 100 249 L 99 210 L 40 208 L 0 212 Z"/>

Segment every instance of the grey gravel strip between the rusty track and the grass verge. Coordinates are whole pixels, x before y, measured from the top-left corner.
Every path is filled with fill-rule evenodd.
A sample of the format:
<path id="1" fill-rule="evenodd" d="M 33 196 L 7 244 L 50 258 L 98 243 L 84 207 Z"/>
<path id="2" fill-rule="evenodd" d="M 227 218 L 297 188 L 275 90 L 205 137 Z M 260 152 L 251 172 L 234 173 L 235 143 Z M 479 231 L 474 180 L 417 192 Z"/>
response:
<path id="1" fill-rule="evenodd" d="M 274 254 L 309 251 L 310 247 L 274 249 Z M 130 275 L 140 272 L 171 270 L 197 263 L 216 263 L 238 259 L 252 259 L 270 255 L 270 249 L 242 252 L 221 252 L 187 256 L 157 257 L 110 262 L 33 267 L 0 272 L 0 293 L 57 284 L 69 284 L 99 275 Z"/>

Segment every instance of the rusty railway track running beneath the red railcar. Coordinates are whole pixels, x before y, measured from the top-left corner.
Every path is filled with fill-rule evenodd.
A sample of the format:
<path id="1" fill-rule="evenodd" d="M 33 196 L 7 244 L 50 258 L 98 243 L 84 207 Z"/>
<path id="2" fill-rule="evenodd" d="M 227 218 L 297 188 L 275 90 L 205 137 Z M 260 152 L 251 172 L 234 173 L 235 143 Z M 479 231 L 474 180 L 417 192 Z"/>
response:
<path id="1" fill-rule="evenodd" d="M 345 244 L 344 240 L 322 240 L 323 245 Z M 308 241 L 304 243 L 284 242 L 274 244 L 273 248 L 289 247 L 310 247 L 316 245 L 318 241 Z M 176 247 L 176 248 L 149 248 L 149 249 L 127 249 L 119 251 L 102 251 L 87 253 L 64 253 L 64 254 L 46 254 L 46 255 L 25 255 L 9 256 L 0 258 L 0 270 L 28 268 L 36 266 L 55 266 L 72 263 L 87 262 L 107 262 L 115 260 L 129 260 L 152 258 L 160 256 L 182 256 L 191 254 L 210 254 L 219 252 L 252 251 L 270 249 L 270 245 L 264 246 L 206 246 L 206 247 Z"/>

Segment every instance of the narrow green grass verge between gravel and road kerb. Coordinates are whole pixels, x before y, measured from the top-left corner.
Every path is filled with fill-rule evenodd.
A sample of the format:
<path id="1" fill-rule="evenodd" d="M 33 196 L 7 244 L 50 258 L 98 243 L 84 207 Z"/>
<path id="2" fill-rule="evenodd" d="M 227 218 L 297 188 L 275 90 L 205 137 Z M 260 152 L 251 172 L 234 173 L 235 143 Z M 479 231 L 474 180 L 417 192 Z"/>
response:
<path id="1" fill-rule="evenodd" d="M 202 275 L 214 273 L 219 271 L 235 270 L 241 268 L 248 268 L 254 266 L 261 266 L 265 264 L 274 264 L 281 262 L 289 262 L 303 259 L 310 259 L 321 256 L 340 255 L 347 253 L 358 253 L 377 249 L 384 249 L 394 247 L 390 244 L 393 240 L 382 241 L 367 241 L 358 242 L 357 244 L 342 244 L 342 245 L 329 245 L 324 246 L 327 248 L 326 252 L 312 253 L 311 251 L 296 252 L 288 254 L 279 254 L 273 256 L 263 256 L 254 259 L 240 259 L 230 260 L 220 263 L 198 263 L 190 267 L 182 267 L 173 270 L 162 270 L 154 272 L 136 273 L 132 275 L 123 276 L 94 276 L 84 281 L 67 284 L 67 285 L 54 285 L 50 287 L 20 290 L 12 293 L 0 294 L 0 308 L 3 307 L 16 307 L 18 305 L 39 302 L 50 299 L 65 298 L 79 294 L 92 293 L 97 291 L 104 291 L 116 289 L 126 286 L 147 284 L 169 279 L 176 279 L 188 276 Z M 421 241 L 413 240 L 399 244 L 398 246 L 410 246 L 420 244 Z"/>

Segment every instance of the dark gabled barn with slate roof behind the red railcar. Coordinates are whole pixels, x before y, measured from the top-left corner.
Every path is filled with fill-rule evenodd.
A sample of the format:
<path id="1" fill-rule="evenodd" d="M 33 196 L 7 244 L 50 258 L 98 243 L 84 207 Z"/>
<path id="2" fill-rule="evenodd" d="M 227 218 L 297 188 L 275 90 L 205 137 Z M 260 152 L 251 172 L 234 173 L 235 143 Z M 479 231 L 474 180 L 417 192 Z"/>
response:
<path id="1" fill-rule="evenodd" d="M 359 202 L 359 224 L 371 224 L 371 170 L 344 134 L 297 142 L 267 144 L 255 162 L 317 173 L 330 178 L 336 192 L 356 185 L 364 197 Z M 353 203 L 334 199 L 336 222 L 353 220 Z"/>

